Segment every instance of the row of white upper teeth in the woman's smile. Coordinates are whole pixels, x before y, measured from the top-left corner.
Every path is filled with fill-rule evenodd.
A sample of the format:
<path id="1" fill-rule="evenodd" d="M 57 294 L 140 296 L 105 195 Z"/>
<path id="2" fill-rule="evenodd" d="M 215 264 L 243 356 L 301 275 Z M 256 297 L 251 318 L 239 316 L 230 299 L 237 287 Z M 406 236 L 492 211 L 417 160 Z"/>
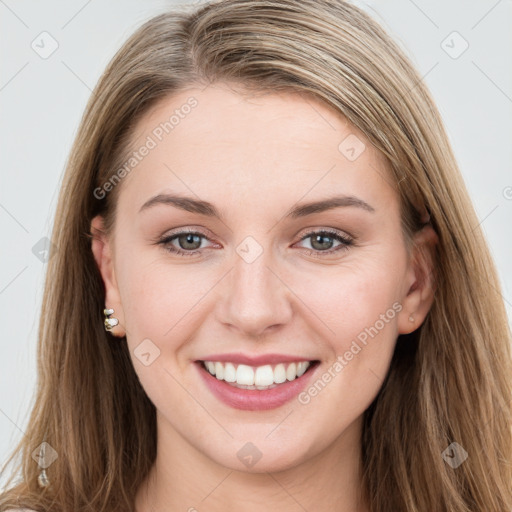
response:
<path id="1" fill-rule="evenodd" d="M 266 364 L 253 368 L 245 364 L 205 361 L 206 369 L 218 380 L 224 380 L 243 389 L 271 389 L 276 384 L 295 380 L 304 375 L 311 365 L 310 361 L 275 366 Z"/>

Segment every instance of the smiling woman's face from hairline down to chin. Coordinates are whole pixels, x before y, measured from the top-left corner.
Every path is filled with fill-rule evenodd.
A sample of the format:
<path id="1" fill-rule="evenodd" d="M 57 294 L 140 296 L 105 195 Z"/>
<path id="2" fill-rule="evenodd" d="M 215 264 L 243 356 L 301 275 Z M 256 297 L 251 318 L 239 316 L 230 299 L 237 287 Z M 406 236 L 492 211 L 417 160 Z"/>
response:
<path id="1" fill-rule="evenodd" d="M 132 150 L 115 229 L 93 251 L 159 428 L 247 471 L 356 439 L 397 336 L 429 306 L 382 156 L 318 100 L 226 84 L 162 101 Z M 200 361 L 225 364 L 214 377 Z M 293 361 L 314 363 L 296 377 Z M 218 378 L 250 382 L 247 366 L 256 384 L 291 380 Z M 242 447 L 262 455 L 254 468 Z"/>

